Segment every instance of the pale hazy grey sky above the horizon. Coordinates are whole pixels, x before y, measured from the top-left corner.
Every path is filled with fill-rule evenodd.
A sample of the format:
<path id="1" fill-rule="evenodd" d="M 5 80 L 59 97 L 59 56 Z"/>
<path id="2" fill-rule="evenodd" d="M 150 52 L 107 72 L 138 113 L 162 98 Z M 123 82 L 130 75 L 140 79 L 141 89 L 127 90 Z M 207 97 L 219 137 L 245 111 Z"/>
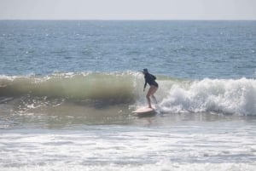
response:
<path id="1" fill-rule="evenodd" d="M 256 20 L 256 0 L 0 0 L 0 20 Z"/>

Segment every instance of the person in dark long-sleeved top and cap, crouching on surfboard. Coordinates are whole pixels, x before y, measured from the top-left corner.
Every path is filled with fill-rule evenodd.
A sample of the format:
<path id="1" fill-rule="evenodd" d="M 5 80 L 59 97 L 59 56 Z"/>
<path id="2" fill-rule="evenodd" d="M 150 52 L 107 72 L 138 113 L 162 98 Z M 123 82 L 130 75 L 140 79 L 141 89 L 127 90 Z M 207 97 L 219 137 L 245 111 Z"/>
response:
<path id="1" fill-rule="evenodd" d="M 155 82 L 156 77 L 154 77 L 154 75 L 150 74 L 148 72 L 148 69 L 146 69 L 146 68 L 143 69 L 143 74 L 144 74 L 144 78 L 145 78 L 145 84 L 144 84 L 143 91 L 145 91 L 145 88 L 146 88 L 147 83 L 148 83 L 150 88 L 148 89 L 148 94 L 146 95 L 146 97 L 147 97 L 147 100 L 148 100 L 148 107 L 152 108 L 150 96 L 153 98 L 154 102 L 157 103 L 157 101 L 154 97 L 154 93 L 156 92 L 156 90 L 158 88 L 158 83 Z"/>

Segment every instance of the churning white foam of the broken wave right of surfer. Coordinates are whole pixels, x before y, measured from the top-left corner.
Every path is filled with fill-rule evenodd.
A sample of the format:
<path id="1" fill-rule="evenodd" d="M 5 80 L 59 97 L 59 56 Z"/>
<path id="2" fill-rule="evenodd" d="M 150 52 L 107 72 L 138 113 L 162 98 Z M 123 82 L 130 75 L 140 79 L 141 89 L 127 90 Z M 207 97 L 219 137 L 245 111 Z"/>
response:
<path id="1" fill-rule="evenodd" d="M 160 106 L 170 112 L 217 111 L 256 115 L 256 81 L 206 78 L 190 84 L 173 84 Z"/>

